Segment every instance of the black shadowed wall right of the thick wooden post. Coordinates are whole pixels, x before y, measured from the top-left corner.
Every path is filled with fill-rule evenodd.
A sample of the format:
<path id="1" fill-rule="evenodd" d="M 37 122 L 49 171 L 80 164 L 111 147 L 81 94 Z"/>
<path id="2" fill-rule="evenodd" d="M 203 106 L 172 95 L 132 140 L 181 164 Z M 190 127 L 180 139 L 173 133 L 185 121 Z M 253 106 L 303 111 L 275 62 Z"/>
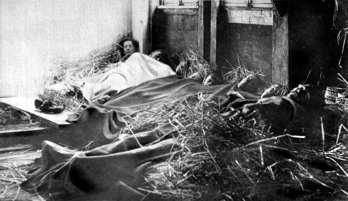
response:
<path id="1" fill-rule="evenodd" d="M 321 74 L 322 84 L 337 85 L 342 49 L 337 44 L 338 32 L 332 28 L 334 5 L 292 1 L 288 12 L 290 87 L 305 81 L 307 76 L 306 83 L 317 84 Z"/>

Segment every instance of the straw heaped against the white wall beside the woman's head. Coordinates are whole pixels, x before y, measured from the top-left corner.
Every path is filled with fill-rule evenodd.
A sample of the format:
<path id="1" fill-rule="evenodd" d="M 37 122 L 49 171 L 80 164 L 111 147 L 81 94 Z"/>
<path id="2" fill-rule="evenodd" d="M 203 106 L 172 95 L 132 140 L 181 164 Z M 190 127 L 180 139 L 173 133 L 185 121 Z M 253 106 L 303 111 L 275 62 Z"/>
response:
<path id="1" fill-rule="evenodd" d="M 84 58 L 76 61 L 59 59 L 55 62 L 53 69 L 45 78 L 41 93 L 38 97 L 53 105 L 64 105 L 69 111 L 76 112 L 80 106 L 86 106 L 86 102 L 77 97 L 69 96 L 62 91 L 49 89 L 54 84 L 71 84 L 74 81 L 96 82 L 100 79 L 107 65 L 116 63 L 121 59 L 121 46 L 119 45 L 122 37 L 129 37 L 131 32 L 120 34 L 115 42 L 93 50 Z"/>

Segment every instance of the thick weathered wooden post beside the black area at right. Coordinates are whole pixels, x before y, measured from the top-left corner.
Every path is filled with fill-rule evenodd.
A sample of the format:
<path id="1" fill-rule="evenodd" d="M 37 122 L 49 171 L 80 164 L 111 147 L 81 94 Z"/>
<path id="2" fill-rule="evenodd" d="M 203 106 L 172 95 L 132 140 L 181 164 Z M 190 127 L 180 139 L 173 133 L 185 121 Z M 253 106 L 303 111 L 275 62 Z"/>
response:
<path id="1" fill-rule="evenodd" d="M 272 82 L 289 84 L 288 13 L 273 17 Z"/>

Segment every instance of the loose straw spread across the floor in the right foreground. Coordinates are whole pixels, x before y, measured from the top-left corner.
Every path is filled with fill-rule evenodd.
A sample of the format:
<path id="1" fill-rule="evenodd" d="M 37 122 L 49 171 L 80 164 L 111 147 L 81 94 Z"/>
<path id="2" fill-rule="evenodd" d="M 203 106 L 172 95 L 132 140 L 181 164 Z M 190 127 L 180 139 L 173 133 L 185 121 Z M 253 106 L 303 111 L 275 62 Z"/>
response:
<path id="1" fill-rule="evenodd" d="M 149 169 L 139 188 L 164 200 L 346 200 L 346 128 L 272 134 L 254 121 L 223 119 L 204 98 L 139 113 L 125 131 L 171 123 L 183 154 Z M 150 195 L 149 195 L 150 196 Z"/>

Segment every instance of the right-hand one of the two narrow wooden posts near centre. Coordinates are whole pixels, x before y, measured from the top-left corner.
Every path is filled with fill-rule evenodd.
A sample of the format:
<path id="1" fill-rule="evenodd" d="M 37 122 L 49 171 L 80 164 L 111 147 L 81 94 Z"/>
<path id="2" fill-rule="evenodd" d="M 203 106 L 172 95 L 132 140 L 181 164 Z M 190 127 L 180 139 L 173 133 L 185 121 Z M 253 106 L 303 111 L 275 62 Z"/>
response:
<path id="1" fill-rule="evenodd" d="M 216 64 L 216 17 L 217 17 L 217 1 L 211 1 L 210 16 L 210 62 Z"/>

